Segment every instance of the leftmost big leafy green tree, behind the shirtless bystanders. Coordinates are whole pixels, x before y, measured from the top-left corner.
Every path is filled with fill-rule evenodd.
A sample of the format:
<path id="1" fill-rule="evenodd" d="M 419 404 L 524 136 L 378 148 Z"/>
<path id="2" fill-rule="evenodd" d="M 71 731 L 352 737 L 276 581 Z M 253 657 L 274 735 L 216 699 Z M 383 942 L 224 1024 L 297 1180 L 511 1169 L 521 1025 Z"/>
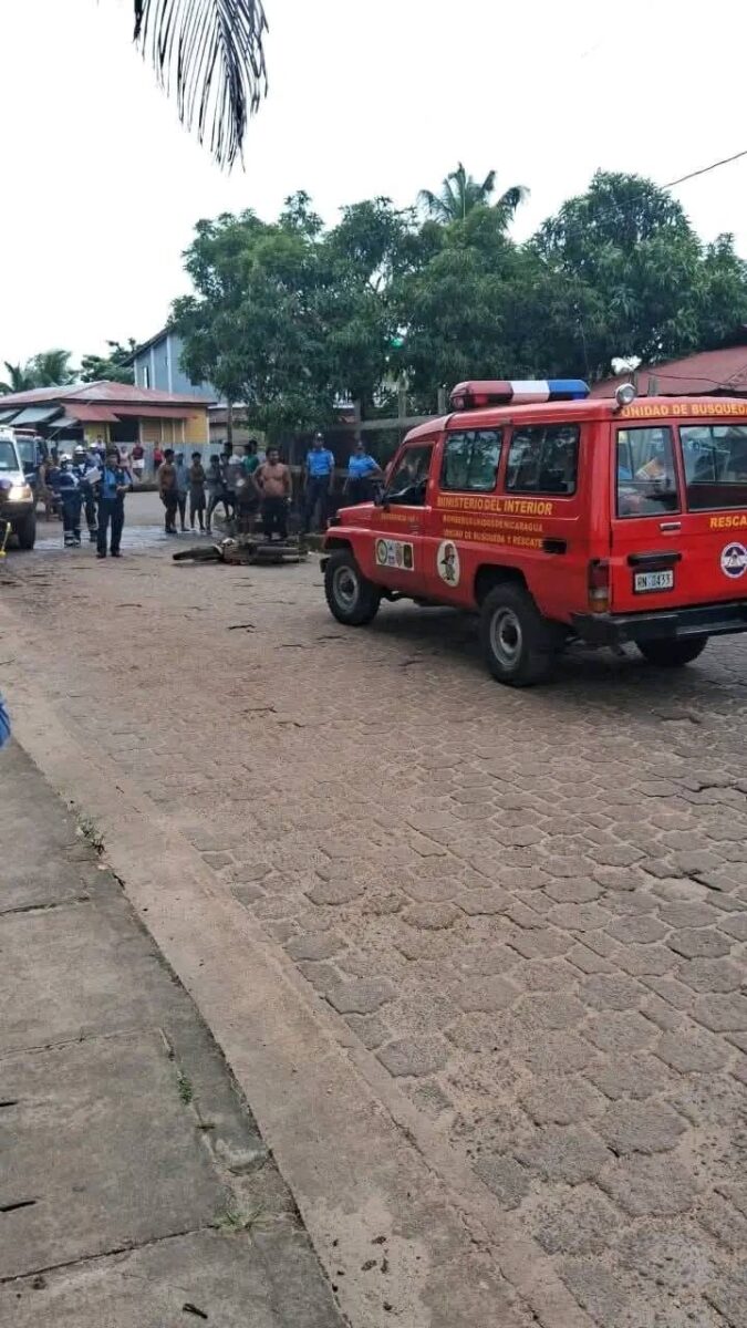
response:
<path id="1" fill-rule="evenodd" d="M 389 372 L 392 275 L 415 231 L 411 212 L 372 199 L 324 232 L 306 194 L 274 224 L 253 212 L 201 222 L 185 255 L 195 293 L 173 307 L 182 367 L 268 437 L 332 420 L 340 397 L 371 404 Z"/>

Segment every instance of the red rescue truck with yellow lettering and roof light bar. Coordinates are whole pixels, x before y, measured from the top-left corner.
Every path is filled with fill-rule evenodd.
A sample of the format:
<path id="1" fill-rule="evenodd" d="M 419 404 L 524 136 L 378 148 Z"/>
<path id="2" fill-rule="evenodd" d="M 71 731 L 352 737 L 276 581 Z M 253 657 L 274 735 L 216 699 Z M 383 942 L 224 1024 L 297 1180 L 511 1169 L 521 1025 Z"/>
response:
<path id="1" fill-rule="evenodd" d="M 451 405 L 408 433 L 376 502 L 330 525 L 338 622 L 403 598 L 473 610 L 513 687 L 573 639 L 674 667 L 747 631 L 747 401 L 561 378 L 461 382 Z"/>

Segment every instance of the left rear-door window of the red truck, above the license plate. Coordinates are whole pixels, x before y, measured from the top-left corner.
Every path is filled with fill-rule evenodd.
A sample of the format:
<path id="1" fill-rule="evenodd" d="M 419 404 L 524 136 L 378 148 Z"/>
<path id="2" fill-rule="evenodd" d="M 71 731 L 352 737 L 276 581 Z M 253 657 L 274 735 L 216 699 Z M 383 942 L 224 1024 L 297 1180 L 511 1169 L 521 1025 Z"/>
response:
<path id="1" fill-rule="evenodd" d="M 618 517 L 679 511 L 671 429 L 618 429 L 615 448 Z"/>

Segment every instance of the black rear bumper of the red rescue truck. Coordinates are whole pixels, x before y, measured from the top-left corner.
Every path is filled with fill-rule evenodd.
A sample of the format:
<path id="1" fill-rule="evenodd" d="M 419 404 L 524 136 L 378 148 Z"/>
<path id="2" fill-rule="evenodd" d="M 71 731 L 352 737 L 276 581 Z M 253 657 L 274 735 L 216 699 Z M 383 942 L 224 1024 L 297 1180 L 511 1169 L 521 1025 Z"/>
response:
<path id="1" fill-rule="evenodd" d="M 728 636 L 747 632 L 747 599 L 661 610 L 658 614 L 574 614 L 572 622 L 576 633 L 590 645 Z"/>

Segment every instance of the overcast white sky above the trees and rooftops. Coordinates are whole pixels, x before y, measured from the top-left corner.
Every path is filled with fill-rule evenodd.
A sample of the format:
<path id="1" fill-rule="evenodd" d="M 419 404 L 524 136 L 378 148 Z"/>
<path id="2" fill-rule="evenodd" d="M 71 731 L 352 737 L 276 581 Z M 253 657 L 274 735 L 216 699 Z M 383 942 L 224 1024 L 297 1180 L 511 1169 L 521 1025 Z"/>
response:
<path id="1" fill-rule="evenodd" d="M 194 222 L 306 189 L 413 201 L 463 159 L 526 185 L 522 238 L 598 167 L 659 182 L 747 147 L 743 0 L 266 0 L 270 94 L 246 173 L 179 127 L 132 0 L 3 5 L 0 360 L 144 340 L 186 288 Z M 747 255 L 747 158 L 679 190 Z"/>

